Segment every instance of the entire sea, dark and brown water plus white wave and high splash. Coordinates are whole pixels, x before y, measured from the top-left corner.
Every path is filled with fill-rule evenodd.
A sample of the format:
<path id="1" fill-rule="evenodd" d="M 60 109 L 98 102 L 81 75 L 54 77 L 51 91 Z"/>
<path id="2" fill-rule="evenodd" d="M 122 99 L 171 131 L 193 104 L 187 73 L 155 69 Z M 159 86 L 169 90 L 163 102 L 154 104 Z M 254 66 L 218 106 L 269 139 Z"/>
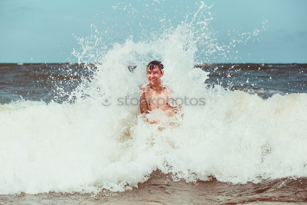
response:
<path id="1" fill-rule="evenodd" d="M 76 63 L 0 64 L 0 204 L 307 202 L 307 64 L 236 63 L 265 27 L 222 45 L 197 6 L 148 36 L 93 30 Z M 174 117 L 140 113 L 152 60 Z"/>

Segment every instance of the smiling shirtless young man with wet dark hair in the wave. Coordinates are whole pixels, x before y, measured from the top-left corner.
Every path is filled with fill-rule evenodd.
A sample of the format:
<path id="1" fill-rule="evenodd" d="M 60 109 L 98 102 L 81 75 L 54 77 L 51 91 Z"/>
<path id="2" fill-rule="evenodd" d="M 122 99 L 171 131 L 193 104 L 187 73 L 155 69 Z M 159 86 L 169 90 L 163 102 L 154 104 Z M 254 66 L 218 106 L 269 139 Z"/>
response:
<path id="1" fill-rule="evenodd" d="M 163 64 L 160 61 L 151 61 L 146 68 L 147 79 L 149 84 L 146 87 L 140 87 L 143 91 L 140 97 L 141 113 L 149 113 L 149 111 L 160 109 L 165 112 L 167 116 L 173 116 L 178 112 L 177 106 L 171 106 L 173 99 L 169 96 L 171 91 L 161 84 L 161 77 L 163 76 Z M 152 120 L 147 122 L 150 124 L 159 124 L 160 121 Z"/>

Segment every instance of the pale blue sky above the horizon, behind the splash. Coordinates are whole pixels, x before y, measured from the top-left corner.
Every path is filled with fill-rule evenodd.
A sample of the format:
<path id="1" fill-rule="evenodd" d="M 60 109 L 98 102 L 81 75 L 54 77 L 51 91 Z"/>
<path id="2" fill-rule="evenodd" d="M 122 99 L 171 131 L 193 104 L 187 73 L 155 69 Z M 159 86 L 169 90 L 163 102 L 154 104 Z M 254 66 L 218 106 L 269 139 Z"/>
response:
<path id="1" fill-rule="evenodd" d="M 249 41 L 238 46 L 240 59 L 236 62 L 307 63 L 306 0 L 210 0 L 204 3 L 213 4 L 210 27 L 216 31 L 221 44 L 229 40 L 228 33 L 235 36 L 236 32 L 251 32 L 261 29 L 265 19 L 268 21 L 267 29 L 257 36 L 260 42 Z M 116 1 L 107 0 L 0 0 L 0 62 L 76 61 L 71 54 L 77 45 L 75 36 L 90 35 L 91 24 L 103 30 L 118 23 L 113 29 L 119 30 L 121 22 L 127 19 L 112 6 L 123 8 L 129 4 L 138 11 L 136 18 L 130 16 L 134 21 L 129 28 L 132 32 L 140 22 L 146 24 L 159 19 L 154 15 L 142 19 L 149 10 L 157 8 L 174 25 L 184 19 L 185 13 L 196 12 L 200 1 L 121 0 L 118 5 Z M 144 6 L 146 4 L 149 6 Z M 142 13 L 145 8 L 147 10 Z"/>

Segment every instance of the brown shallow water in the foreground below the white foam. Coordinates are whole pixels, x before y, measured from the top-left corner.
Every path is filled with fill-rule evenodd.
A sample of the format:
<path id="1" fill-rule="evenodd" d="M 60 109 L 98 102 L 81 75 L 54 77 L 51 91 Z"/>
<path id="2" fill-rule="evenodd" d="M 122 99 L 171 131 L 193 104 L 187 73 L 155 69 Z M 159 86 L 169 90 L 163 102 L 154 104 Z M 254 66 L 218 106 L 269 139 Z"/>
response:
<path id="1" fill-rule="evenodd" d="M 306 204 L 307 179 L 278 179 L 263 183 L 229 184 L 200 181 L 174 182 L 154 171 L 145 183 L 125 192 L 42 193 L 0 195 L 0 204 Z"/>

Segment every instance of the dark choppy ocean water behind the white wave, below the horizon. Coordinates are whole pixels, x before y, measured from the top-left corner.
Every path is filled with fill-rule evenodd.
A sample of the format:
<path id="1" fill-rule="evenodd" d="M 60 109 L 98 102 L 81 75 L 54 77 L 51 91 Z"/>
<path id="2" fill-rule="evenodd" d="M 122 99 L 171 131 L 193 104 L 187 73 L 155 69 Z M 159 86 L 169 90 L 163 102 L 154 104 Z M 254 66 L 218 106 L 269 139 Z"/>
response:
<path id="1" fill-rule="evenodd" d="M 17 100 L 62 102 L 81 82 L 91 79 L 96 67 L 85 64 L 0 64 L 0 103 Z M 196 65 L 210 72 L 208 86 L 221 84 L 266 99 L 274 94 L 307 93 L 307 64 Z M 134 69 L 127 66 L 127 69 Z M 93 72 L 94 71 L 94 72 Z M 59 96 L 57 91 L 64 93 Z M 63 94 L 62 94 L 63 95 Z"/>

